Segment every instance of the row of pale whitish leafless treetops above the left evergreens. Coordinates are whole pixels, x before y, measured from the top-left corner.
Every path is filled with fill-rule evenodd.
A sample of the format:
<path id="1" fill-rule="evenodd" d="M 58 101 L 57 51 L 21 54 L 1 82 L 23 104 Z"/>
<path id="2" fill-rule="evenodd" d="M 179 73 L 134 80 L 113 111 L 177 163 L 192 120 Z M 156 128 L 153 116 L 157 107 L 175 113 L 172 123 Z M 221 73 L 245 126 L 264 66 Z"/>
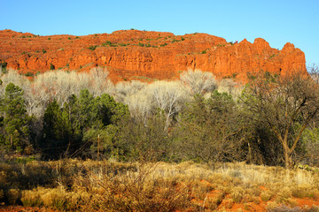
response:
<path id="1" fill-rule="evenodd" d="M 3 81 L 0 95 L 4 94 L 6 85 L 12 82 L 25 91 L 27 113 L 41 117 L 49 101 L 56 99 L 60 105 L 63 105 L 70 95 L 79 95 L 84 88 L 88 88 L 95 96 L 103 93 L 113 94 L 113 83 L 107 77 L 108 72 L 98 67 L 93 68 L 89 73 L 61 70 L 44 72 L 30 81 L 17 71 L 9 70 L 0 75 Z"/>

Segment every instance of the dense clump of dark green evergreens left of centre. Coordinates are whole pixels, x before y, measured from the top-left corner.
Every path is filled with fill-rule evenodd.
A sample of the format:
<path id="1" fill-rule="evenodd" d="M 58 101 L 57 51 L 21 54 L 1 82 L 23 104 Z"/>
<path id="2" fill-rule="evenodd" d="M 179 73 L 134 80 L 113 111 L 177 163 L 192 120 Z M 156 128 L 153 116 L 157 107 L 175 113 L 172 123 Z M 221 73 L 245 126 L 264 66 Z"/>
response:
<path id="1" fill-rule="evenodd" d="M 94 98 L 88 89 L 83 89 L 79 97 L 71 95 L 62 108 L 53 101 L 43 117 L 43 153 L 55 158 L 92 156 L 87 154 L 93 150 L 96 155 L 96 140 L 100 135 L 101 148 L 106 155 L 113 155 L 119 151 L 119 132 L 128 117 L 126 105 L 106 94 Z"/>

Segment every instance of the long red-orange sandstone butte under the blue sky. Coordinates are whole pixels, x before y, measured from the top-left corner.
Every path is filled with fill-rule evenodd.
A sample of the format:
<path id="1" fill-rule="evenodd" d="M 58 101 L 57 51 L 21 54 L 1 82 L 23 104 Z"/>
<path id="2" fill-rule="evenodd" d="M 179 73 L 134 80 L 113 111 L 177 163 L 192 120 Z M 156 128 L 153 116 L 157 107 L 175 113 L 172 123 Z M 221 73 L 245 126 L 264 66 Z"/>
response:
<path id="1" fill-rule="evenodd" d="M 247 79 L 253 72 L 284 74 L 306 71 L 305 55 L 287 42 L 273 49 L 257 38 L 253 43 L 226 42 L 210 34 L 120 30 L 85 36 L 39 36 L 0 31 L 0 63 L 22 74 L 50 68 L 88 71 L 103 66 L 113 81 L 177 79 L 180 72 L 200 69 L 219 78 Z"/>

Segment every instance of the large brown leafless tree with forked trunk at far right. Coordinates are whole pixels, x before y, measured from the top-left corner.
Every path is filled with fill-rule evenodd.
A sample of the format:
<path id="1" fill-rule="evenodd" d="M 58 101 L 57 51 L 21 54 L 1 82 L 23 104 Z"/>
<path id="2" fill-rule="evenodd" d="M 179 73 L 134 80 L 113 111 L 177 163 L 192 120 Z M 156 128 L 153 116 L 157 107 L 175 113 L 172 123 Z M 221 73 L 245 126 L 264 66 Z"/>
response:
<path id="1" fill-rule="evenodd" d="M 287 169 L 292 168 L 292 153 L 300 145 L 302 133 L 319 110 L 318 95 L 318 85 L 301 72 L 259 77 L 245 94 L 246 108 L 280 141 Z"/>

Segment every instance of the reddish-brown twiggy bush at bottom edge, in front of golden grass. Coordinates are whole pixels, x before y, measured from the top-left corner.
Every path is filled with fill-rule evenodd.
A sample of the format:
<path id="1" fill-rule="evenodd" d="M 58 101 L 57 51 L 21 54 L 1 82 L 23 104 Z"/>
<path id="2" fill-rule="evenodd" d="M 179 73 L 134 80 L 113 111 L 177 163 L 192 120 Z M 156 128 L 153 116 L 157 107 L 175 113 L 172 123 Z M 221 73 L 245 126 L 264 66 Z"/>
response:
<path id="1" fill-rule="evenodd" d="M 156 163 L 136 164 L 136 170 L 109 174 L 91 172 L 79 178 L 94 193 L 84 210 L 110 211 L 176 211 L 190 206 L 187 186 L 177 186 L 175 180 L 155 177 Z M 89 182 L 88 185 L 86 182 Z"/>

